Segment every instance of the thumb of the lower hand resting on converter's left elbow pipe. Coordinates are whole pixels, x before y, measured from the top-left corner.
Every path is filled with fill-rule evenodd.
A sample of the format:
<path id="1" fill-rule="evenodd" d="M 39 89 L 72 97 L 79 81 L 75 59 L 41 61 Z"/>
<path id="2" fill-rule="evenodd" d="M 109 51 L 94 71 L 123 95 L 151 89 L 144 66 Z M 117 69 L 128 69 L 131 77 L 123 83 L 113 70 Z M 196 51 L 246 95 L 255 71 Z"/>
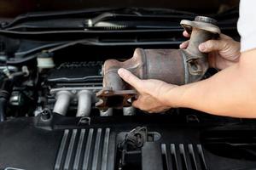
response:
<path id="1" fill-rule="evenodd" d="M 134 76 L 130 71 L 120 68 L 118 73 L 119 77 L 121 77 L 125 82 L 128 82 L 133 88 L 141 87 L 142 80 Z"/>

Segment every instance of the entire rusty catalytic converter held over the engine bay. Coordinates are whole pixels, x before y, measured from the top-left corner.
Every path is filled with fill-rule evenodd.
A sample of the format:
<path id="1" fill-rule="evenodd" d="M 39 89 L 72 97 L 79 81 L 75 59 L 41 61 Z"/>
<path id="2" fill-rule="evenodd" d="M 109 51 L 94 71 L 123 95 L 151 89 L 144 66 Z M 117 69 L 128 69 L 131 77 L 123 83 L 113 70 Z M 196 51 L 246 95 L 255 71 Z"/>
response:
<path id="1" fill-rule="evenodd" d="M 107 110 L 109 107 L 131 106 L 131 99 L 137 92 L 119 77 L 119 68 L 125 68 L 141 79 L 158 79 L 177 85 L 200 81 L 208 69 L 208 61 L 207 54 L 201 53 L 198 46 L 218 37 L 220 30 L 216 23 L 204 16 L 197 16 L 193 21 L 181 20 L 181 26 L 190 34 L 186 49 L 137 48 L 133 57 L 124 62 L 106 60 L 103 89 L 96 94 L 99 99 L 96 107 Z"/>

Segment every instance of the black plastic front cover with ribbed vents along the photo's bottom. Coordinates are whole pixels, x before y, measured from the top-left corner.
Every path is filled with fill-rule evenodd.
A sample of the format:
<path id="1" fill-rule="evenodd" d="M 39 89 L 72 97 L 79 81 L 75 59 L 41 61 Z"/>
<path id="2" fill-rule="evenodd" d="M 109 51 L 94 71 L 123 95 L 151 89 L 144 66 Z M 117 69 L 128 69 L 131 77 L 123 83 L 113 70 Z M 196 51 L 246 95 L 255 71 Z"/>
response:
<path id="1" fill-rule="evenodd" d="M 228 125 L 229 121 L 225 123 Z M 80 119 L 54 114 L 48 121 L 41 116 L 17 118 L 0 124 L 0 169 L 118 169 L 119 133 L 129 132 L 137 126 L 160 134 L 160 139 L 143 146 L 139 169 L 154 170 L 157 166 L 163 170 L 253 169 L 256 161 L 242 155 L 236 147 L 231 147 L 225 156 L 221 154 L 226 148 L 225 136 L 230 144 L 232 139 L 240 139 L 240 144 L 248 144 L 248 141 L 253 144 L 256 130 L 249 125 L 249 128 L 241 126 L 240 120 L 237 123 L 239 130 L 235 128 L 239 126 L 234 127 L 234 120 L 229 128 L 224 124 L 217 127 L 214 121 L 211 124 L 185 122 L 175 116 Z M 215 129 L 214 134 L 208 133 L 213 132 L 212 129 Z M 222 143 L 218 139 L 222 139 Z M 209 149 L 214 144 L 218 144 L 219 151 Z M 241 157 L 232 156 L 234 153 L 240 153 Z M 154 163 L 157 166 L 153 166 Z"/>

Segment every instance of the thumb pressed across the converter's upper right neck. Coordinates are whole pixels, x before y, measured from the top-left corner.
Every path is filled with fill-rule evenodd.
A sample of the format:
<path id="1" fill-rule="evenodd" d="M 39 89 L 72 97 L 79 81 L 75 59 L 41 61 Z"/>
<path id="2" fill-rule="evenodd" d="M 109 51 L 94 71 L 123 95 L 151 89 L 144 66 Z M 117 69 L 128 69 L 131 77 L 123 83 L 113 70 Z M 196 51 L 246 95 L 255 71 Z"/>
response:
<path id="1" fill-rule="evenodd" d="M 227 43 L 222 40 L 208 40 L 207 42 L 202 42 L 199 45 L 199 50 L 204 53 L 209 53 L 212 51 L 220 51 L 226 48 Z"/>

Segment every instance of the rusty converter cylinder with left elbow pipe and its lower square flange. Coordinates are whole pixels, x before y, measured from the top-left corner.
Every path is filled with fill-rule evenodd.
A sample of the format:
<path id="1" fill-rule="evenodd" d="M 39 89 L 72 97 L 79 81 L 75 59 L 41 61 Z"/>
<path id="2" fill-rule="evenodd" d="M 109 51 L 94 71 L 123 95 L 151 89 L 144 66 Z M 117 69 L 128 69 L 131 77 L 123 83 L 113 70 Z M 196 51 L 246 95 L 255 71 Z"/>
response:
<path id="1" fill-rule="evenodd" d="M 133 57 L 125 62 L 107 60 L 103 67 L 104 88 L 96 94 L 100 99 L 96 107 L 107 110 L 108 107 L 131 106 L 131 101 L 128 100 L 134 98 L 137 92 L 119 77 L 119 68 L 125 68 L 142 79 L 158 79 L 181 85 L 185 83 L 183 63 L 182 53 L 173 49 L 137 48 Z"/>

